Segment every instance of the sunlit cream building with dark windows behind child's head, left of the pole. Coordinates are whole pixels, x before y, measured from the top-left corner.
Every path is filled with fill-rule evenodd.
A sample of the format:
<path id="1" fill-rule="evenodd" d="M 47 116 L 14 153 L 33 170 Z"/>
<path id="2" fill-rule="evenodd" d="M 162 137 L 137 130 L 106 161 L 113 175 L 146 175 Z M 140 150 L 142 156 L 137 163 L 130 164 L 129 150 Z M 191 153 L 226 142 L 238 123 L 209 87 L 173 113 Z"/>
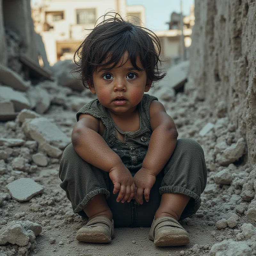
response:
<path id="1" fill-rule="evenodd" d="M 31 8 L 35 31 L 42 36 L 50 65 L 72 59 L 83 38 L 108 11 L 145 24 L 144 6 L 128 6 L 126 0 L 42 0 Z"/>

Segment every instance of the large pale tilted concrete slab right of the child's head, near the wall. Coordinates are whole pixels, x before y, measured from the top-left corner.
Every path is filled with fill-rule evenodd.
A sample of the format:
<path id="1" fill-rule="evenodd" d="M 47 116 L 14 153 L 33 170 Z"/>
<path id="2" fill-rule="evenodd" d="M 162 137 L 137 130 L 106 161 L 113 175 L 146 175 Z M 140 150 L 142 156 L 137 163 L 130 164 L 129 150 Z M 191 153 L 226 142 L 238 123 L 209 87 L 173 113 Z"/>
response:
<path id="1" fill-rule="evenodd" d="M 189 61 L 183 61 L 174 65 L 166 71 L 166 76 L 159 81 L 158 86 L 180 89 L 188 81 Z"/>

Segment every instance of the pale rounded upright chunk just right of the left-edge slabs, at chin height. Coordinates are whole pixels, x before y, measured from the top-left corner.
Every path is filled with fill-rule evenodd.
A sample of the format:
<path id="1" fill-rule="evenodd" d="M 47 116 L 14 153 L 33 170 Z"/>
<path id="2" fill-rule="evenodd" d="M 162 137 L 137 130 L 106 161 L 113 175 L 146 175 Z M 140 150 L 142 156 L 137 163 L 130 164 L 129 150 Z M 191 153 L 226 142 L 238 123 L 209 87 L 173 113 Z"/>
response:
<path id="1" fill-rule="evenodd" d="M 51 105 L 49 93 L 40 87 L 33 87 L 28 90 L 28 99 L 32 108 L 36 108 L 39 114 L 45 113 Z"/>

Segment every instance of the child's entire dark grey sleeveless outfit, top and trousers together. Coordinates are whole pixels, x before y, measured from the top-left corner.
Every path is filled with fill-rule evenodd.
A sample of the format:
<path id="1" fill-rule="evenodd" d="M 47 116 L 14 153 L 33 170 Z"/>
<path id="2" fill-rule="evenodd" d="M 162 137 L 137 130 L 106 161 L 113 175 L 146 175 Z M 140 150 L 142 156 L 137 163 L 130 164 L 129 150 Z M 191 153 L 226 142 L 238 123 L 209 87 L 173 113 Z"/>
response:
<path id="1" fill-rule="evenodd" d="M 78 121 L 80 114 L 100 118 L 105 125 L 103 139 L 134 176 L 142 167 L 148 150 L 152 134 L 149 105 L 153 100 L 157 98 L 144 94 L 139 103 L 140 129 L 136 132 L 120 130 L 99 100 L 93 100 L 82 107 L 76 118 Z M 124 142 L 118 140 L 116 130 L 124 135 Z M 130 203 L 117 203 L 118 194 L 113 194 L 114 186 L 108 173 L 85 162 L 77 155 L 72 144 L 63 152 L 59 177 L 62 181 L 60 187 L 66 191 L 75 213 L 86 218 L 84 207 L 97 194 L 105 194 L 113 213 L 115 227 L 150 227 L 163 193 L 181 193 L 191 197 L 180 219 L 189 217 L 198 210 L 200 195 L 206 186 L 207 169 L 201 146 L 191 139 L 178 140 L 170 160 L 156 176 L 156 183 L 150 190 L 149 202 L 144 199 L 142 205 L 138 205 L 135 200 Z"/>

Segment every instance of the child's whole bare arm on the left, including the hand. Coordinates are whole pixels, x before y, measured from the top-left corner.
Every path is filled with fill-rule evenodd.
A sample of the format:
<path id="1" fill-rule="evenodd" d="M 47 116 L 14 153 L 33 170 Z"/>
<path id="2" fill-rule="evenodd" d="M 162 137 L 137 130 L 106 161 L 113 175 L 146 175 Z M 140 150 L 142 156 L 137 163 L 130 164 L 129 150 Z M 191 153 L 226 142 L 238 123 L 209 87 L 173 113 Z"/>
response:
<path id="1" fill-rule="evenodd" d="M 81 114 L 76 123 L 71 140 L 76 153 L 87 163 L 109 172 L 114 184 L 113 193 L 118 193 L 116 201 L 130 202 L 135 193 L 135 185 L 130 171 L 121 158 L 108 147 L 100 136 L 99 120 L 94 116 Z"/>

